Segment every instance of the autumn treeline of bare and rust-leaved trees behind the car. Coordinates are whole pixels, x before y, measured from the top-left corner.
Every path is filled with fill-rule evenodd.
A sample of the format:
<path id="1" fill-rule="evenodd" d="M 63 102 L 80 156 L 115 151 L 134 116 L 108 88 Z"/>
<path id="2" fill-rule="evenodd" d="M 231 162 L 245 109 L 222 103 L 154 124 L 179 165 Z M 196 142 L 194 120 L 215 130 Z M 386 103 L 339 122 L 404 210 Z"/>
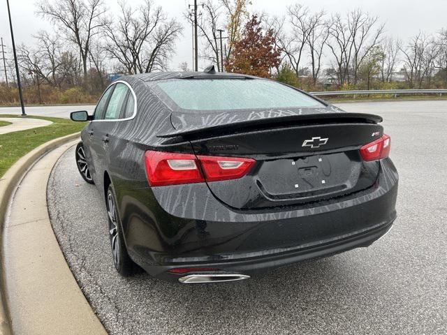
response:
<path id="1" fill-rule="evenodd" d="M 203 1 L 203 66 L 274 77 L 309 91 L 447 87 L 446 29 L 401 40 L 360 9 L 313 12 L 295 3 L 284 16 L 272 17 L 250 13 L 251 2 Z M 152 0 L 122 0 L 117 13 L 105 0 L 40 0 L 36 13 L 53 29 L 38 31 L 33 45 L 17 49 L 27 103 L 94 103 L 116 77 L 111 74 L 168 70 L 179 38 L 191 38 L 189 10 L 183 19 L 171 17 Z M 17 103 L 11 60 L 2 78 L 0 104 Z"/>

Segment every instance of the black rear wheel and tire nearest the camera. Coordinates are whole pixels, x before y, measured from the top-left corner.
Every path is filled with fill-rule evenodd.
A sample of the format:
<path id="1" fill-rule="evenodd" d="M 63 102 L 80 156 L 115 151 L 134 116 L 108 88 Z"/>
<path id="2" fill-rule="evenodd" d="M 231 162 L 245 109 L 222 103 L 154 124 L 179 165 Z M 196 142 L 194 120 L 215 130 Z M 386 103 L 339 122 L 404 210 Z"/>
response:
<path id="1" fill-rule="evenodd" d="M 138 265 L 129 257 L 122 232 L 121 220 L 117 210 L 117 198 L 112 184 L 109 185 L 105 195 L 105 207 L 107 208 L 109 223 L 109 238 L 112 248 L 112 259 L 115 269 L 122 276 L 131 276 L 138 272 Z"/>

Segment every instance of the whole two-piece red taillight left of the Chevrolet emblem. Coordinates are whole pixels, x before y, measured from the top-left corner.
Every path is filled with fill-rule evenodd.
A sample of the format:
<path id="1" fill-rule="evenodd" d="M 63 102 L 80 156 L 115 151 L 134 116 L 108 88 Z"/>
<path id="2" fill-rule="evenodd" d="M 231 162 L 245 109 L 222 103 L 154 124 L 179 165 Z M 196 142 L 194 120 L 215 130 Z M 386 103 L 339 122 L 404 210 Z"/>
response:
<path id="1" fill-rule="evenodd" d="M 256 161 L 251 158 L 196 156 L 146 151 L 145 168 L 150 186 L 191 184 L 243 177 Z"/>

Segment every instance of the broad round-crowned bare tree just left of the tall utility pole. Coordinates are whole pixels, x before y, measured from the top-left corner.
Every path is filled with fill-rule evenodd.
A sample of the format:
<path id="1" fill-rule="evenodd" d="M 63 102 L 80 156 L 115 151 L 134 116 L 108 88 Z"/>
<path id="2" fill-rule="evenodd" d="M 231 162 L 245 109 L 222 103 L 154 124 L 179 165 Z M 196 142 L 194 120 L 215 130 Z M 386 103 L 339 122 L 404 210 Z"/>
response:
<path id="1" fill-rule="evenodd" d="M 182 26 L 175 19 L 168 20 L 161 7 L 149 0 L 136 9 L 122 1 L 120 8 L 117 20 L 103 24 L 110 57 L 128 73 L 166 69 Z"/>

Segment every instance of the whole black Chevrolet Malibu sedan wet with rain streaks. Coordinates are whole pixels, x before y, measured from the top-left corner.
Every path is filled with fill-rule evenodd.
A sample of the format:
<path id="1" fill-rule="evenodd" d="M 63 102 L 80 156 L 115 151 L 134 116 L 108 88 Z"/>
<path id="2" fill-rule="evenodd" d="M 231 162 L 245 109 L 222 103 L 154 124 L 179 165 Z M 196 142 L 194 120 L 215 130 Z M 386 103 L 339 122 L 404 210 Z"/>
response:
<path id="1" fill-rule="evenodd" d="M 147 73 L 105 90 L 76 148 L 105 200 L 115 267 L 237 281 L 371 245 L 396 218 L 372 114 L 248 75 Z"/>

